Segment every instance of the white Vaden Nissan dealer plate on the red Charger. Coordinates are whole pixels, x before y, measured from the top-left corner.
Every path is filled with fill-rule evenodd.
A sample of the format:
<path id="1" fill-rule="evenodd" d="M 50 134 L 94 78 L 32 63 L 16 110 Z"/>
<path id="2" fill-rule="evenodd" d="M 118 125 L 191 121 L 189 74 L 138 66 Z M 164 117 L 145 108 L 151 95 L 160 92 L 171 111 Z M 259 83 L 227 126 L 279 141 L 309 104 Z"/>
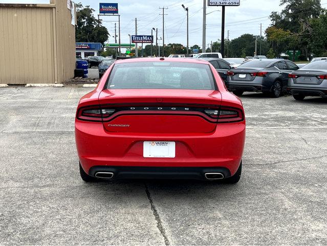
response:
<path id="1" fill-rule="evenodd" d="M 143 157 L 175 158 L 175 142 L 144 141 Z"/>

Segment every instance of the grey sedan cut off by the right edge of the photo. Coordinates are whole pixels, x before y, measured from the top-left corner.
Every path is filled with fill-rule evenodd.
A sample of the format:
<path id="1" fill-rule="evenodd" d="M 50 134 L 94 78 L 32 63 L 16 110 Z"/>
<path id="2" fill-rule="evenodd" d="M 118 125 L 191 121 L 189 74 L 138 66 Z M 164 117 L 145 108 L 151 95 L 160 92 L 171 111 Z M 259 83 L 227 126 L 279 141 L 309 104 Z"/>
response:
<path id="1" fill-rule="evenodd" d="M 287 91 L 296 100 L 306 96 L 327 97 L 327 60 L 309 63 L 289 74 Z"/>

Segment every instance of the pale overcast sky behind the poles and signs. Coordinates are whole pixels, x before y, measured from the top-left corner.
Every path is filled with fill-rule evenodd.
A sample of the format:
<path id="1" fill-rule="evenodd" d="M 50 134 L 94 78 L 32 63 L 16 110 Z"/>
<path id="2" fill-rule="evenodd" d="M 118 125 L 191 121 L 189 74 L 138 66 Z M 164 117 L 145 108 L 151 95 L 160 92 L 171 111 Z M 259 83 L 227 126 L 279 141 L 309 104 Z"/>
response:
<path id="1" fill-rule="evenodd" d="M 59 0 L 66 1 L 66 0 Z M 45 3 L 49 0 L 0 0 L 0 3 Z M 202 16 L 203 0 L 119 0 L 119 1 L 95 1 L 75 0 L 75 3 L 90 5 L 99 13 L 99 3 L 118 3 L 121 14 L 121 43 L 129 43 L 128 34 L 135 34 L 135 17 L 138 18 L 138 34 L 150 35 L 151 28 L 158 28 L 158 38 L 162 37 L 162 10 L 165 10 L 165 44 L 181 43 L 186 45 L 186 11 L 182 4 L 189 8 L 189 46 L 202 45 Z M 272 11 L 280 11 L 279 0 L 241 0 L 241 6 L 226 7 L 226 27 L 230 31 L 230 39 L 236 38 L 244 33 L 254 35 L 260 34 L 260 23 L 265 29 L 270 25 L 268 16 Z M 327 0 L 321 1 L 322 6 L 327 6 Z M 221 10 L 221 7 L 207 7 L 207 13 Z M 117 17 L 101 16 L 103 25 L 109 33 L 114 36 L 115 20 Z M 221 38 L 222 12 L 215 11 L 207 15 L 206 43 L 209 44 Z M 118 23 L 117 23 L 118 30 Z M 117 31 L 118 35 L 118 31 Z M 114 37 L 110 37 L 110 43 L 114 43 Z"/>

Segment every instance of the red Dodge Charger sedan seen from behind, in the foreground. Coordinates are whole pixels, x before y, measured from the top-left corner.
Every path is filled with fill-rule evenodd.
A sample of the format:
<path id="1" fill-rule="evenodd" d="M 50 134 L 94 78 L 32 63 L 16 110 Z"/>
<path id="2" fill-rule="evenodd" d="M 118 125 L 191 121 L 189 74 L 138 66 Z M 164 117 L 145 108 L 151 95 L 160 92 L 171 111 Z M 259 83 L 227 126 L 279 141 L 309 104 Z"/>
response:
<path id="1" fill-rule="evenodd" d="M 122 178 L 238 182 L 245 144 L 241 100 L 207 61 L 116 61 L 83 96 L 75 138 L 84 181 Z"/>

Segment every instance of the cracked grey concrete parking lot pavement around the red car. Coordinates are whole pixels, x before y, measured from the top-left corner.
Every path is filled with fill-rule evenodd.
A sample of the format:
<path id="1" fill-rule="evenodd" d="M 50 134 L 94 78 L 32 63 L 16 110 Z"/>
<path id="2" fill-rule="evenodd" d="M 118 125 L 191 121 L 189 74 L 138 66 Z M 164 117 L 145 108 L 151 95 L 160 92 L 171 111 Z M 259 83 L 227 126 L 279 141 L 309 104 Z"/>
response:
<path id="1" fill-rule="evenodd" d="M 327 100 L 245 93 L 237 185 L 84 183 L 74 117 L 90 88 L 0 89 L 0 244 L 327 244 Z"/>

